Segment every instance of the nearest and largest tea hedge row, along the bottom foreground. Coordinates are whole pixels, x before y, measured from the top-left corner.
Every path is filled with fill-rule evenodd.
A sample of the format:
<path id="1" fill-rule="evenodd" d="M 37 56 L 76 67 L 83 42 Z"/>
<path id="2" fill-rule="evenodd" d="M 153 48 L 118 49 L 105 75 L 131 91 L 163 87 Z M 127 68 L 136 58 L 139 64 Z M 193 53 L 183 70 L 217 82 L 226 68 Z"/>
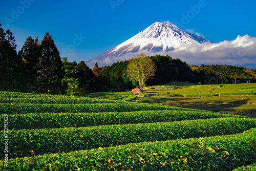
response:
<path id="1" fill-rule="evenodd" d="M 9 159 L 11 170 L 232 170 L 256 162 L 256 129 L 241 134 Z M 0 163 L 2 170 L 4 162 Z"/>

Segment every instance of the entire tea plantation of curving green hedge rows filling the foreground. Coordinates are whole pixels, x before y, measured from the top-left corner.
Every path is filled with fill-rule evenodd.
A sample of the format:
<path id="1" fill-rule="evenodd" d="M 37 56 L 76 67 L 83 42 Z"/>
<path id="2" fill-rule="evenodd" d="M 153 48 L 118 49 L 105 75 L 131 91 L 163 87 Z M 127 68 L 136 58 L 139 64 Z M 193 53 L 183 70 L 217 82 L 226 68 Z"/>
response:
<path id="1" fill-rule="evenodd" d="M 189 98 L 199 105 L 205 103 L 199 97 Z M 224 100 L 217 101 L 223 104 Z M 255 119 L 159 105 L 170 102 L 169 97 L 157 97 L 156 101 L 158 104 L 145 104 L 0 92 L 3 142 L 0 169 L 241 170 L 247 165 L 247 168 L 255 167 Z"/>

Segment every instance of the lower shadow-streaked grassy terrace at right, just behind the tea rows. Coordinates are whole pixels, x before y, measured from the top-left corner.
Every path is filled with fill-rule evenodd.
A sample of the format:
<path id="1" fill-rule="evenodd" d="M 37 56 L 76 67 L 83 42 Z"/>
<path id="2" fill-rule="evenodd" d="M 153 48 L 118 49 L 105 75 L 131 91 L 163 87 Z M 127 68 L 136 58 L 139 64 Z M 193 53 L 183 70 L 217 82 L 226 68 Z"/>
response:
<path id="1" fill-rule="evenodd" d="M 256 111 L 256 96 L 143 97 L 136 102 L 207 111 Z"/>

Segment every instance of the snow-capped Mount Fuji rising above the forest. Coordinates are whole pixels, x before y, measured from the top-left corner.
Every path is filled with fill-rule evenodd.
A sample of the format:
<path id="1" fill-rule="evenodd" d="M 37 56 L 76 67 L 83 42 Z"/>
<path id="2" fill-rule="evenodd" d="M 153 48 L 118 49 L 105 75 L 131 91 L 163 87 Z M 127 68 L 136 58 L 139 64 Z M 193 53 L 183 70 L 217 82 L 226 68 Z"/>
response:
<path id="1" fill-rule="evenodd" d="M 182 45 L 200 45 L 204 42 L 213 43 L 203 37 L 184 31 L 174 24 L 156 22 L 117 47 L 88 60 L 86 63 L 89 67 L 93 67 L 95 62 L 99 66 L 111 65 L 118 59 L 130 59 L 140 52 L 146 55 L 167 54 L 167 52 Z"/>

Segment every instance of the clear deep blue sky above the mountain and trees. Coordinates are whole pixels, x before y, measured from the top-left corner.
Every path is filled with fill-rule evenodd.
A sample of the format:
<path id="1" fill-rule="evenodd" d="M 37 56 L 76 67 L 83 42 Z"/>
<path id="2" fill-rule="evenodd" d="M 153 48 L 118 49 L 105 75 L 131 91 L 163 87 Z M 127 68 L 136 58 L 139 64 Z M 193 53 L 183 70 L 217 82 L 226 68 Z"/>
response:
<path id="1" fill-rule="evenodd" d="M 0 23 L 13 32 L 17 50 L 27 37 L 38 36 L 41 40 L 49 31 L 61 57 L 65 55 L 70 61 L 79 62 L 114 48 L 155 22 L 166 20 L 214 42 L 246 34 L 256 37 L 255 9 L 255 1 L 241 0 L 13 0 L 1 2 Z"/>

